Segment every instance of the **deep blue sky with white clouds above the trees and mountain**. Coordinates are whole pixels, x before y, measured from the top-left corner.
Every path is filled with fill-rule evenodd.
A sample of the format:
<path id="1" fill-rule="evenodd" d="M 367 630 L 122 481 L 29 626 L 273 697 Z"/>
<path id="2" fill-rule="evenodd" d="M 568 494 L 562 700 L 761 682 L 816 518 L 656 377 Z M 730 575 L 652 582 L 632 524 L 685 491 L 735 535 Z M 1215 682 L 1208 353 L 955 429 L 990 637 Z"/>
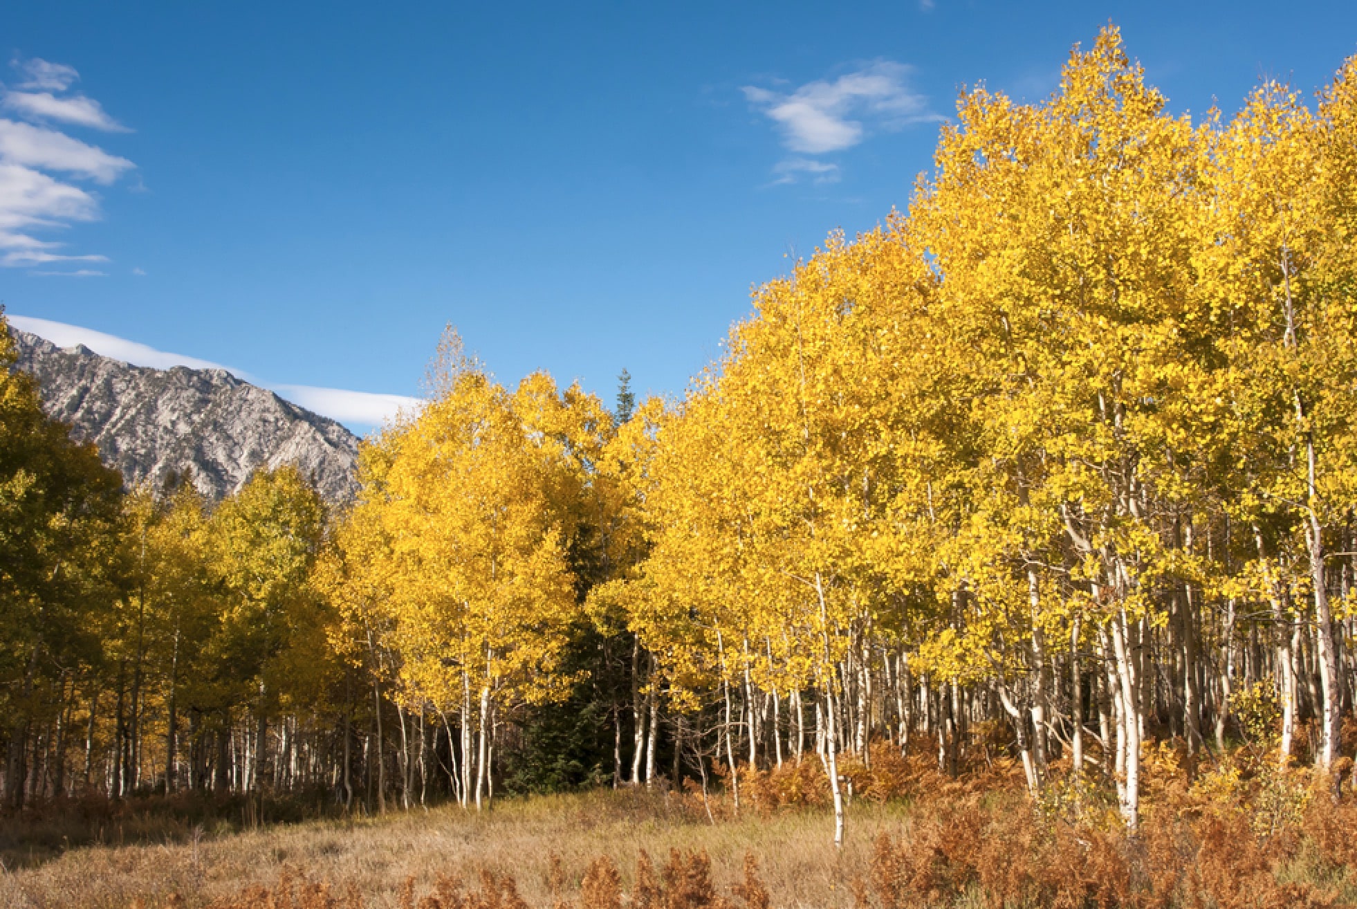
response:
<path id="1" fill-rule="evenodd" d="M 1109 20 L 1196 114 L 1357 53 L 1352 0 L 9 4 L 0 301 L 360 430 L 320 392 L 417 395 L 449 322 L 506 383 L 681 392 L 962 85 L 1037 99 Z"/>

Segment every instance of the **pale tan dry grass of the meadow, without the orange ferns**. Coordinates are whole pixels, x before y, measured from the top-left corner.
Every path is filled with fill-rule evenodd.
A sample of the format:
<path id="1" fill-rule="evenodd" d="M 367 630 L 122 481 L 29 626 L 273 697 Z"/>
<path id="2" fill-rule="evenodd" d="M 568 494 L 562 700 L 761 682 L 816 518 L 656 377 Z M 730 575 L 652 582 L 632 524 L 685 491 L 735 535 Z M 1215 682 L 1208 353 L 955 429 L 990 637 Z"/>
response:
<path id="1" fill-rule="evenodd" d="M 900 803 L 859 802 L 847 847 L 836 853 L 833 817 L 824 809 L 745 813 L 711 824 L 691 805 L 643 791 L 502 799 L 480 814 L 438 806 L 204 833 L 178 843 L 73 848 L 0 872 L 0 906 L 202 906 L 294 872 L 337 891 L 353 885 L 364 906 L 375 909 L 399 905 L 407 879 L 423 893 L 438 875 L 476 881 L 486 870 L 510 875 L 528 905 L 546 908 L 556 902 L 552 856 L 567 898 L 575 898 L 594 859 L 611 857 L 630 890 L 642 849 L 662 867 L 674 848 L 706 851 L 711 879 L 723 894 L 741 879 L 745 855 L 753 853 L 773 906 L 852 906 L 851 882 L 867 876 L 874 838 L 882 830 L 898 833 L 902 817 Z M 183 902 L 171 902 L 172 894 Z"/>

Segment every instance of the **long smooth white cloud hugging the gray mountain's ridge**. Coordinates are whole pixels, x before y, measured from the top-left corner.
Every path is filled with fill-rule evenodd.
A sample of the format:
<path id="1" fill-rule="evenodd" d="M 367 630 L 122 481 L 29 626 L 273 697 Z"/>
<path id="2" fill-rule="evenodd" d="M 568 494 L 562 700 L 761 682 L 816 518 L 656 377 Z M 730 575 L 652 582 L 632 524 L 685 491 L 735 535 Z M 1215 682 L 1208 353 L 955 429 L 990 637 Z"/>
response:
<path id="1" fill-rule="evenodd" d="M 75 271 L 62 271 L 56 274 L 79 277 L 79 273 Z M 52 322 L 49 319 L 35 319 L 33 316 L 11 315 L 7 316 L 7 319 L 15 328 L 35 334 L 39 338 L 46 338 L 58 347 L 75 347 L 76 345 L 83 345 L 96 354 L 121 360 L 123 362 L 133 364 L 134 366 L 149 366 L 152 369 L 172 369 L 174 366 L 189 366 L 190 369 L 223 369 L 243 381 L 277 392 L 280 398 L 290 400 L 293 404 L 305 407 L 307 410 L 315 411 L 322 417 L 328 417 L 330 419 L 335 419 L 350 426 L 381 426 L 388 419 L 396 417 L 396 414 L 402 411 L 417 411 L 423 404 L 418 398 L 407 398 L 404 395 L 379 395 L 364 391 L 349 391 L 345 388 L 319 388 L 315 385 L 267 383 L 251 376 L 243 369 L 224 366 L 221 364 L 212 362 L 210 360 L 199 360 L 197 357 L 186 357 L 185 354 L 156 350 L 148 345 L 128 341 L 126 338 L 110 335 L 103 331 L 95 331 L 94 328 L 72 326 L 64 322 Z"/>

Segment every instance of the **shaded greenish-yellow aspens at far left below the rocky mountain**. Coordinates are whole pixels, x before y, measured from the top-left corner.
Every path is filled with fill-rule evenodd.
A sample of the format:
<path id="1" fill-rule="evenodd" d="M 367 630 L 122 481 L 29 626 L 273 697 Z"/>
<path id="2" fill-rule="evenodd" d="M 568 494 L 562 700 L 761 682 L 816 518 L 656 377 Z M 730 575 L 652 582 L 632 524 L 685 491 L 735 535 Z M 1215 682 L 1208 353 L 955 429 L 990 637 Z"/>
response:
<path id="1" fill-rule="evenodd" d="M 331 726 L 342 668 L 311 586 L 315 490 L 280 468 L 210 513 L 189 478 L 125 494 L 0 343 L 5 806 L 316 781 L 299 741 Z"/>

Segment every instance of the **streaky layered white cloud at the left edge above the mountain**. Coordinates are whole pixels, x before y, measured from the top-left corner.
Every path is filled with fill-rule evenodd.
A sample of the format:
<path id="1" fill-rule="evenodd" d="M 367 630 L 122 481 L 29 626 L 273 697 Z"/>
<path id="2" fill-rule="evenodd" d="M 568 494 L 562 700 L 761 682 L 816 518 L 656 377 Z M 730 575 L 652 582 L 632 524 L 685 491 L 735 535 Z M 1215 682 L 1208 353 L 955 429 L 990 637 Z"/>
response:
<path id="1" fill-rule="evenodd" d="M 19 73 L 19 83 L 14 88 L 0 85 L 0 106 L 35 122 L 0 118 L 0 267 L 107 262 L 102 255 L 60 252 L 64 243 L 39 239 L 35 233 L 99 217 L 98 198 L 68 180 L 92 180 L 107 186 L 136 164 L 49 123 L 60 121 L 103 130 L 128 130 L 110 118 L 98 102 L 66 94 L 80 79 L 75 68 L 37 58 L 14 60 L 11 65 Z M 53 174 L 64 176 L 58 179 Z M 88 269 L 64 274 L 103 275 Z"/>

